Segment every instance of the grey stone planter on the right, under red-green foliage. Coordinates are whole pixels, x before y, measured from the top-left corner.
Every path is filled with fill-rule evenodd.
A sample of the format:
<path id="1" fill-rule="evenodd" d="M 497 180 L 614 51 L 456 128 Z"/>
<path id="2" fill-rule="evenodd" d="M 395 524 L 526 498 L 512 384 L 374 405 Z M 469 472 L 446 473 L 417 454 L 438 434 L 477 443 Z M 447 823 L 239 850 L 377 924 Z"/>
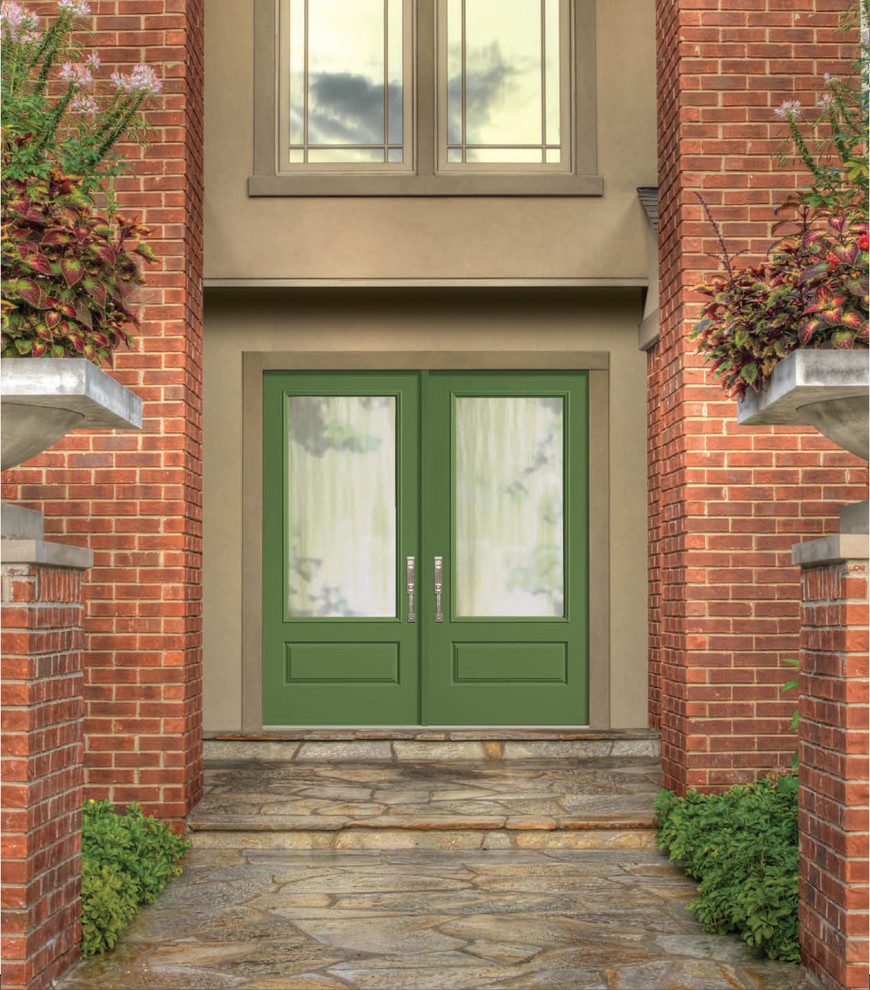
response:
<path id="1" fill-rule="evenodd" d="M 737 401 L 742 426 L 814 426 L 868 459 L 870 351 L 799 350 L 774 369 L 758 394 Z"/>

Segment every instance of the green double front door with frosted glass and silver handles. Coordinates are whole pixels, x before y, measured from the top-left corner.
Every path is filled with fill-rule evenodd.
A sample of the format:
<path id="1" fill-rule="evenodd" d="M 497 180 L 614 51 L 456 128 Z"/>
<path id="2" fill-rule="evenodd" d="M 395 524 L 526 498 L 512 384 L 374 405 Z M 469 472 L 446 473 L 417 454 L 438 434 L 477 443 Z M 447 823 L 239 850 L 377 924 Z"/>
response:
<path id="1" fill-rule="evenodd" d="M 583 372 L 267 372 L 263 724 L 588 722 Z"/>

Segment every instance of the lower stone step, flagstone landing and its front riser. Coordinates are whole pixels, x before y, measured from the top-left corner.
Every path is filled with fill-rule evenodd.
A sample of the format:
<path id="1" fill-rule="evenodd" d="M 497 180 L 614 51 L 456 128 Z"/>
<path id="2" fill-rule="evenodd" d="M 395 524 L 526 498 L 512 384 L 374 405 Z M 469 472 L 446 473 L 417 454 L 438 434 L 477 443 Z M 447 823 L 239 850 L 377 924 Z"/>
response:
<path id="1" fill-rule="evenodd" d="M 655 847 L 658 760 L 209 760 L 196 848 Z"/>

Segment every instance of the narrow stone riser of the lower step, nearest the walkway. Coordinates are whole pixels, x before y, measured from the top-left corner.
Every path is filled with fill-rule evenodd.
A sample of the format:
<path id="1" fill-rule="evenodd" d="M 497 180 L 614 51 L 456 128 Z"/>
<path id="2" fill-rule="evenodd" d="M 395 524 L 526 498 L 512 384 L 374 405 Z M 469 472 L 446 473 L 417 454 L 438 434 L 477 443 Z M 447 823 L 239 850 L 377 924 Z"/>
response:
<path id="1" fill-rule="evenodd" d="M 194 849 L 657 849 L 643 829 L 339 829 L 334 832 L 189 831 Z"/>

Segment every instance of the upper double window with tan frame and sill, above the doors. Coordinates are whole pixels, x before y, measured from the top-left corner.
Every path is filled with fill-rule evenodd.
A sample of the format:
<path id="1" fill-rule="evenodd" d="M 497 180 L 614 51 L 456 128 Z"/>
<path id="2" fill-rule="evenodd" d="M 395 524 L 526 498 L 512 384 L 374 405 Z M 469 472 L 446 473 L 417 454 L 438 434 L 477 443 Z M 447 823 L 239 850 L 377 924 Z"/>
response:
<path id="1" fill-rule="evenodd" d="M 594 0 L 256 0 L 251 195 L 598 195 Z"/>

